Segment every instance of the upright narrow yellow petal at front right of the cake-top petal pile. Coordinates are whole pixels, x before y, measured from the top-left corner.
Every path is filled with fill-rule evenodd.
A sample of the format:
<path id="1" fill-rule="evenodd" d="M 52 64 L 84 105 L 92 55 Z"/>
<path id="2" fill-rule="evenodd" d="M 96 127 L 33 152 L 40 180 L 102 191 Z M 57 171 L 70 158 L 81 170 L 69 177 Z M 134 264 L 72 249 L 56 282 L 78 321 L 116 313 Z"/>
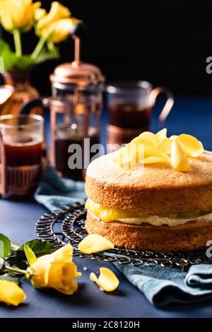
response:
<path id="1" fill-rule="evenodd" d="M 171 165 L 178 172 L 185 172 L 189 170 L 189 160 L 182 149 L 179 138 L 172 141 L 171 150 Z"/>

